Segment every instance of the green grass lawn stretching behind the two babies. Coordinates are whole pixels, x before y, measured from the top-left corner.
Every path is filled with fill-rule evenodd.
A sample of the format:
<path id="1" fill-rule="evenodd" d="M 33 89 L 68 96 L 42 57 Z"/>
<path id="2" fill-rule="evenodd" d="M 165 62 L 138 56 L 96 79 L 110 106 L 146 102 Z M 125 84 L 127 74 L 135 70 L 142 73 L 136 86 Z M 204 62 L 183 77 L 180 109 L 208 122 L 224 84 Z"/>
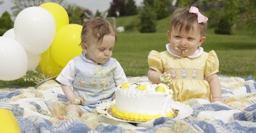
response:
<path id="1" fill-rule="evenodd" d="M 157 32 L 141 34 L 138 31 L 128 31 L 117 34 L 117 41 L 113 52 L 124 68 L 127 76 L 145 76 L 148 71 L 147 56 L 150 50 L 161 52 L 168 43 L 166 31 L 169 28 L 170 18 L 157 21 Z M 111 20 L 109 20 L 111 21 Z M 116 18 L 116 27 L 129 25 L 138 21 L 138 15 L 132 17 Z M 112 22 L 111 22 L 112 23 Z M 220 60 L 220 73 L 228 76 L 256 78 L 256 38 L 244 36 L 236 31 L 232 36 L 216 35 L 213 29 L 207 32 L 206 40 L 202 47 L 205 52 L 214 50 Z M 37 69 L 38 70 L 38 69 Z M 38 75 L 29 72 L 28 75 Z M 44 77 L 39 77 L 39 79 Z M 35 86 L 38 81 L 24 81 L 24 78 L 14 81 L 0 81 L 0 87 Z"/>

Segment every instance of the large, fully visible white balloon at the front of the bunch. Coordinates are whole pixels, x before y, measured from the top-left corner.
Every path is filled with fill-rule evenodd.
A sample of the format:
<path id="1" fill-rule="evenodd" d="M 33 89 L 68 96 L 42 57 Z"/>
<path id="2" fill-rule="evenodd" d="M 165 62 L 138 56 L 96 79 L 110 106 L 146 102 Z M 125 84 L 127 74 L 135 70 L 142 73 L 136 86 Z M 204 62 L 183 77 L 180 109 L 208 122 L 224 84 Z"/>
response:
<path id="1" fill-rule="evenodd" d="M 15 39 L 29 52 L 40 54 L 51 46 L 56 24 L 51 13 L 39 6 L 20 11 L 14 21 Z"/>

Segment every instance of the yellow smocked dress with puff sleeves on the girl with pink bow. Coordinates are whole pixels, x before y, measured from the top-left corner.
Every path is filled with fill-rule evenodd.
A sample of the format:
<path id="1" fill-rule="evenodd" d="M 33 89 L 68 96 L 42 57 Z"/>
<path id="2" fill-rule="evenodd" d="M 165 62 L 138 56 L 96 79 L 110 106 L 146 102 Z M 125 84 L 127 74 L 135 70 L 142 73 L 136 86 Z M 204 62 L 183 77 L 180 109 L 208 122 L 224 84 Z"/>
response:
<path id="1" fill-rule="evenodd" d="M 177 101 L 211 100 L 209 83 L 205 78 L 219 71 L 219 60 L 213 50 L 202 52 L 195 58 L 176 57 L 167 50 L 160 53 L 152 50 L 148 55 L 148 64 L 150 69 L 159 73 L 171 74 L 171 88 Z"/>

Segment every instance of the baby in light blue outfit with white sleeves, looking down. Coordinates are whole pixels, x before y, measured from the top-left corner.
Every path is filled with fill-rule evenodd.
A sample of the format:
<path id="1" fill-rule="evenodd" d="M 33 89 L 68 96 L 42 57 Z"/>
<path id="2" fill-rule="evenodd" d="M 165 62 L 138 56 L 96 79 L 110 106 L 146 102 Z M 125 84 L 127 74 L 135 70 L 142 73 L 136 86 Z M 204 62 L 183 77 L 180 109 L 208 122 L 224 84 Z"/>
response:
<path id="1" fill-rule="evenodd" d="M 115 87 L 127 82 L 124 69 L 111 58 L 116 34 L 107 20 L 87 20 L 81 33 L 81 55 L 70 60 L 56 78 L 70 104 L 67 117 L 90 113 L 102 101 L 112 100 Z"/>

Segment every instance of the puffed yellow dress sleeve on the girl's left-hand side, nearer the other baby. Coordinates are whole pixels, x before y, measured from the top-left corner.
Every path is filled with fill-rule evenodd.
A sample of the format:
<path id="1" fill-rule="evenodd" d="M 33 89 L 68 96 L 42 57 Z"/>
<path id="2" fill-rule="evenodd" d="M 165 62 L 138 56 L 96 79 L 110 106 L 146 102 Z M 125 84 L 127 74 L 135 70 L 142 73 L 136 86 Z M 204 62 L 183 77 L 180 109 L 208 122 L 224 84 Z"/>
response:
<path id="1" fill-rule="evenodd" d="M 163 60 L 161 59 L 161 55 L 159 52 L 152 50 L 148 54 L 148 65 L 150 69 L 153 69 L 154 71 L 163 73 L 164 67 L 163 67 Z"/>

